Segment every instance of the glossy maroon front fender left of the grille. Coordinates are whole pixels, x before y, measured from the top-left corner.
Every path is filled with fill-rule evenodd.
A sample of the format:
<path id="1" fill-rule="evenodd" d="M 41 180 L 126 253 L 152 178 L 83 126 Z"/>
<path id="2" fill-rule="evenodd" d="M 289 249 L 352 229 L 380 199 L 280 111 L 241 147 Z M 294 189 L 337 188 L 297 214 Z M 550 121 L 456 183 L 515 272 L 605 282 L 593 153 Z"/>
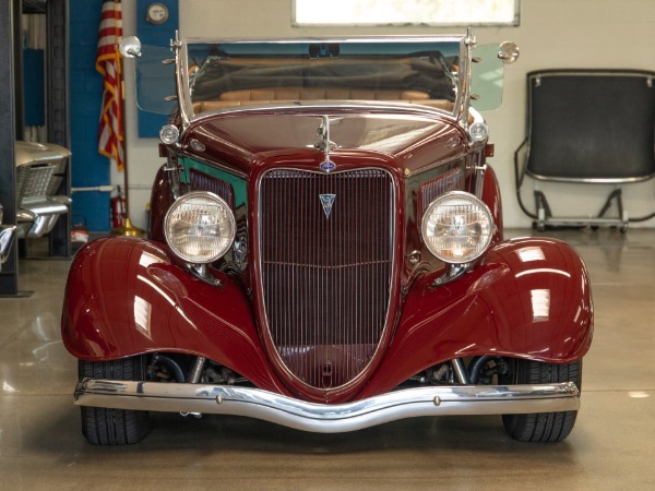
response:
<path id="1" fill-rule="evenodd" d="M 76 358 L 91 361 L 151 351 L 205 356 L 238 367 L 262 388 L 288 394 L 263 355 L 243 289 L 218 275 L 219 296 L 217 287 L 174 265 L 156 242 L 91 242 L 78 252 L 69 273 L 63 344 Z"/>

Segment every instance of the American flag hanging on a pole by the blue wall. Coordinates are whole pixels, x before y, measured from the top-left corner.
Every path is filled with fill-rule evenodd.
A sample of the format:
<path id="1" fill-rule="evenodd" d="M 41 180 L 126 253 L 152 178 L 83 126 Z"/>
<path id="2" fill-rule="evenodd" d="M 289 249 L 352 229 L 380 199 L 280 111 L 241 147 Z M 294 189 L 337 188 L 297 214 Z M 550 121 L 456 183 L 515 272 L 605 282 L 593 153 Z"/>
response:
<path id="1" fill-rule="evenodd" d="M 118 41 L 122 37 L 120 0 L 103 2 L 96 70 L 103 75 L 103 107 L 98 129 L 98 152 L 123 168 L 122 76 Z"/>

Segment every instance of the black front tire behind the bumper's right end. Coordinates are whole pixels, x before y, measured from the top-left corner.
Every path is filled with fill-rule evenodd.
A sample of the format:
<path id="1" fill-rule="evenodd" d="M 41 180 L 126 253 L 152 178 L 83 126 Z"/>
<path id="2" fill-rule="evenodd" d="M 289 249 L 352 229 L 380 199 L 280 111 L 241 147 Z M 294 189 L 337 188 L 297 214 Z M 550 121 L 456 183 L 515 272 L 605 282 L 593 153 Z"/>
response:
<path id="1" fill-rule="evenodd" d="M 573 382 L 581 388 L 582 360 L 567 364 L 544 363 L 531 360 L 512 360 L 510 372 L 501 383 L 548 384 Z M 507 432 L 522 442 L 560 442 L 573 426 L 577 411 L 536 412 L 529 415 L 503 415 Z"/>

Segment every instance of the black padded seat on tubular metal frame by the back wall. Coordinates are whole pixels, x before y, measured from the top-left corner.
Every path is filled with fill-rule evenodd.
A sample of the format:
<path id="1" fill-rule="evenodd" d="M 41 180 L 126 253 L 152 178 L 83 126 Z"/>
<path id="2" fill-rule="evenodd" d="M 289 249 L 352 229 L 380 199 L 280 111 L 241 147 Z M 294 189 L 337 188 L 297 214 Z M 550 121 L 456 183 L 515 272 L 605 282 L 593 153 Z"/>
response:
<path id="1" fill-rule="evenodd" d="M 541 70 L 527 74 L 527 137 L 514 153 L 516 194 L 538 229 L 548 225 L 618 226 L 629 218 L 619 184 L 655 177 L 655 72 L 638 70 Z M 521 189 L 536 181 L 614 183 L 596 217 L 557 218 L 543 191 L 535 212 Z M 606 216 L 617 204 L 618 216 Z"/>

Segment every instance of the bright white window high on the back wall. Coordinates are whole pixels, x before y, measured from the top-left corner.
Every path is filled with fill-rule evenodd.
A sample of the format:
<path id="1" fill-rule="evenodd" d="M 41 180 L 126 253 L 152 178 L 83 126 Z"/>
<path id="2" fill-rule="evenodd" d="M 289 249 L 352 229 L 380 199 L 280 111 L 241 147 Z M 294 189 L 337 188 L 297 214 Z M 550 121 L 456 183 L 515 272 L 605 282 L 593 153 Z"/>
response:
<path id="1" fill-rule="evenodd" d="M 295 25 L 519 25 L 520 0 L 295 0 Z"/>

